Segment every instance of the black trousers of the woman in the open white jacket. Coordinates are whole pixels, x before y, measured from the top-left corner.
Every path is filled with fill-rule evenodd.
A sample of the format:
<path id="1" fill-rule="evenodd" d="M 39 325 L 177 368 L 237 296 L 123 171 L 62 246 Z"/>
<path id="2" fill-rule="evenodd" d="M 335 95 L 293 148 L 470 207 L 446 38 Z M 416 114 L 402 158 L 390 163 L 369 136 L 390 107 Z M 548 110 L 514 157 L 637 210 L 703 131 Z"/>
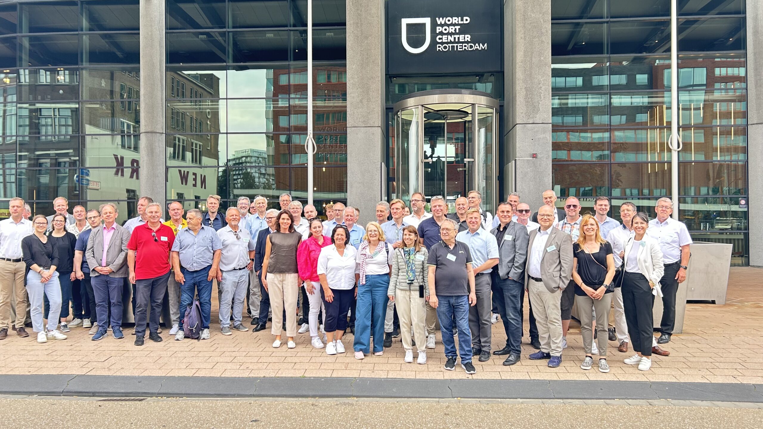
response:
<path id="1" fill-rule="evenodd" d="M 652 305 L 655 295 L 649 287 L 649 280 L 641 273 L 623 272 L 623 309 L 628 325 L 630 344 L 633 350 L 643 356 L 652 356 L 654 317 Z"/>

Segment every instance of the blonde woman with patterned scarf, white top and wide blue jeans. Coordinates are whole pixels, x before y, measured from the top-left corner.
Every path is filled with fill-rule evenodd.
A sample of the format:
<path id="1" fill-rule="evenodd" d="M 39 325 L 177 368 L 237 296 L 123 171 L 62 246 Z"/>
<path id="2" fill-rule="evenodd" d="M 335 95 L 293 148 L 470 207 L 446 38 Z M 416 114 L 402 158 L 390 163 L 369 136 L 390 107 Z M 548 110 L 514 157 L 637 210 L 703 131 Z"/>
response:
<path id="1" fill-rule="evenodd" d="M 356 256 L 358 303 L 355 318 L 355 359 L 371 353 L 371 329 L 374 330 L 374 354 L 384 354 L 384 320 L 387 314 L 387 289 L 392 266 L 392 247 L 385 241 L 377 222 L 365 225 L 365 236 Z"/>

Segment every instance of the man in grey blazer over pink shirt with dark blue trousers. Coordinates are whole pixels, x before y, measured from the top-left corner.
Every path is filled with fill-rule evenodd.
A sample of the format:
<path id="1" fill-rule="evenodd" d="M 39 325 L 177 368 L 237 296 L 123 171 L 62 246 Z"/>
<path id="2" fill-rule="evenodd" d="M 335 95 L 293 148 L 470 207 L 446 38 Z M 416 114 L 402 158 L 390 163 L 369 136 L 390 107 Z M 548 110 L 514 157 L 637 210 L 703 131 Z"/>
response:
<path id="1" fill-rule="evenodd" d="M 129 274 L 127 267 L 127 242 L 130 231 L 116 223 L 117 206 L 111 202 L 101 205 L 104 224 L 95 228 L 88 239 L 85 257 L 90 266 L 90 282 L 95 295 L 95 314 L 98 331 L 92 340 L 106 337 L 108 313 L 111 311 L 111 331 L 114 338 L 122 334 L 122 285 Z"/>

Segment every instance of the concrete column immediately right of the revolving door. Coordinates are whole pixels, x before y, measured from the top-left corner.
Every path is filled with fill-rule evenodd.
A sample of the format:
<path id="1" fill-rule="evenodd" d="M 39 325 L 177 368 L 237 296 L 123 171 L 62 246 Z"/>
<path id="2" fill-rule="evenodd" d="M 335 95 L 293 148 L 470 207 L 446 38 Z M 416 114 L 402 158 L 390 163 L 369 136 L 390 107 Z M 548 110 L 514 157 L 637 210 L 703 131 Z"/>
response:
<path id="1" fill-rule="evenodd" d="M 542 192 L 552 184 L 548 0 L 504 2 L 504 99 L 504 193 L 516 189 L 521 201 L 536 211 L 543 204 Z M 512 162 L 516 184 L 509 175 Z"/>

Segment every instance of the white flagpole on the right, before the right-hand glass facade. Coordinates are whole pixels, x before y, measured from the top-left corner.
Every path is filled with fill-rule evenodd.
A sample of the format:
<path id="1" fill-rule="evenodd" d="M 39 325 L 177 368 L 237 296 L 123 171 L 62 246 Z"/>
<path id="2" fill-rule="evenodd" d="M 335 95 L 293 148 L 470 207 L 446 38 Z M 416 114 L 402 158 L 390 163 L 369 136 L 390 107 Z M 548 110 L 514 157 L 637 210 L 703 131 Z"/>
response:
<path id="1" fill-rule="evenodd" d="M 681 150 L 681 136 L 678 135 L 678 0 L 671 0 L 670 15 L 670 104 L 671 104 L 671 195 L 673 218 L 678 220 L 678 151 Z"/>

